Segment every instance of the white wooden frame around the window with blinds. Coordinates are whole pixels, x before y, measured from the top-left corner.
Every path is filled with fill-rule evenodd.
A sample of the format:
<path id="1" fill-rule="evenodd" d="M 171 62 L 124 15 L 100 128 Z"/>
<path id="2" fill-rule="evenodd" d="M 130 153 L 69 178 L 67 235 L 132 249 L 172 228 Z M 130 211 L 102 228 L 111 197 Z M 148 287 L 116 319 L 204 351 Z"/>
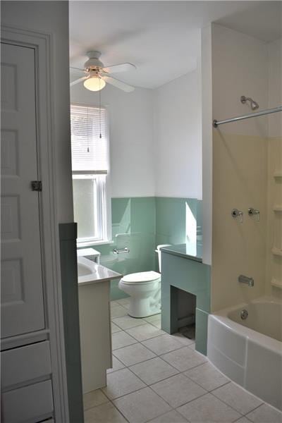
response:
<path id="1" fill-rule="evenodd" d="M 99 106 L 94 104 L 85 104 L 78 102 L 71 102 L 71 106 L 82 106 L 89 107 L 90 109 L 99 109 Z M 109 109 L 106 106 L 101 106 L 102 109 L 106 111 L 106 133 L 107 133 L 107 160 L 108 160 L 108 172 L 102 173 L 96 171 L 93 174 L 88 173 L 87 175 L 83 174 L 81 171 L 72 170 L 72 180 L 75 178 L 83 179 L 83 176 L 87 178 L 97 178 L 97 197 L 99 197 L 97 212 L 99 214 L 99 238 L 97 237 L 85 237 L 77 238 L 78 247 L 88 247 L 90 245 L 103 245 L 103 244 L 112 244 L 112 232 L 111 232 L 111 183 L 110 183 L 110 132 L 109 132 Z M 104 178 L 104 180 L 102 180 Z"/>

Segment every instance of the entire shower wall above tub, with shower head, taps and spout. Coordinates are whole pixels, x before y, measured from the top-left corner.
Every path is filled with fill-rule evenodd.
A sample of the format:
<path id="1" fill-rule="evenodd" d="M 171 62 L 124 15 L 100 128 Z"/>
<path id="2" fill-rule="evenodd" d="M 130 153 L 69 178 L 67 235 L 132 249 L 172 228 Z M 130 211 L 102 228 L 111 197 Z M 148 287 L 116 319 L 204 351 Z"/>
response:
<path id="1" fill-rule="evenodd" d="M 274 94 L 270 96 L 271 83 L 275 93 L 281 92 L 281 71 L 273 63 L 271 68 L 274 52 L 269 44 L 215 24 L 205 41 L 211 49 L 212 118 L 222 120 L 251 113 L 246 104 L 241 104 L 241 95 L 254 98 L 259 110 L 281 104 L 277 94 L 275 98 Z M 281 61 L 281 44 L 274 50 L 277 64 L 279 58 Z M 274 122 L 281 122 L 281 114 L 276 115 L 228 123 L 211 133 L 212 311 L 249 302 L 265 292 L 274 293 L 271 278 L 281 279 L 281 255 L 271 252 L 274 243 L 280 253 L 282 247 L 281 212 L 273 210 L 274 202 L 278 209 L 282 198 L 278 176 L 281 125 Z M 211 125 L 210 120 L 206 123 Z M 248 216 L 249 207 L 259 209 L 259 221 Z M 243 223 L 232 218 L 234 208 L 243 211 Z M 238 283 L 240 274 L 252 276 L 255 286 Z M 277 295 L 278 291 L 276 288 Z"/>

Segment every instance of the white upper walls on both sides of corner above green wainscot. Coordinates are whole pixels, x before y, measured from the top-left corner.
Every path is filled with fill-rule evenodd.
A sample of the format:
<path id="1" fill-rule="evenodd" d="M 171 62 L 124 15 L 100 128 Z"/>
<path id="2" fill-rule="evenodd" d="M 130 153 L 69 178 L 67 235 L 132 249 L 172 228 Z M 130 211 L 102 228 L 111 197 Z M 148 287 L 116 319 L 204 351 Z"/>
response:
<path id="1" fill-rule="evenodd" d="M 101 92 L 109 111 L 111 197 L 202 198 L 200 69 L 156 90 Z M 71 102 L 99 94 L 71 87 Z"/>

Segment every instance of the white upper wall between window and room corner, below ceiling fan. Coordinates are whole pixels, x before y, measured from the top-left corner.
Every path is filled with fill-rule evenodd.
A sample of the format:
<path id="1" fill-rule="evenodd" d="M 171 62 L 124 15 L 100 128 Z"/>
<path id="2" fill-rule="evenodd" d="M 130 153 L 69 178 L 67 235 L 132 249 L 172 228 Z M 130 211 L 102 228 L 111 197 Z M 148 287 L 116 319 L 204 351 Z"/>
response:
<path id="1" fill-rule="evenodd" d="M 102 106 L 109 111 L 111 197 L 154 196 L 153 91 L 125 93 L 106 85 Z M 99 106 L 99 94 L 71 87 L 71 102 Z"/>

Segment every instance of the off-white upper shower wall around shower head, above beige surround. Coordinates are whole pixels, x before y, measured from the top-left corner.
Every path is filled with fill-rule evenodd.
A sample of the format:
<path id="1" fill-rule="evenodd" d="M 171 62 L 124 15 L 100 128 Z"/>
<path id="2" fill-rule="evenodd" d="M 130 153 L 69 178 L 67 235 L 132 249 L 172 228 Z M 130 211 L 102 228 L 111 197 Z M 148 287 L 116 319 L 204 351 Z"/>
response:
<path id="1" fill-rule="evenodd" d="M 267 44 L 250 35 L 212 24 L 212 113 L 226 118 L 252 113 L 240 102 L 241 95 L 253 97 L 259 110 L 267 109 Z M 267 117 L 222 125 L 221 131 L 267 136 Z"/>

